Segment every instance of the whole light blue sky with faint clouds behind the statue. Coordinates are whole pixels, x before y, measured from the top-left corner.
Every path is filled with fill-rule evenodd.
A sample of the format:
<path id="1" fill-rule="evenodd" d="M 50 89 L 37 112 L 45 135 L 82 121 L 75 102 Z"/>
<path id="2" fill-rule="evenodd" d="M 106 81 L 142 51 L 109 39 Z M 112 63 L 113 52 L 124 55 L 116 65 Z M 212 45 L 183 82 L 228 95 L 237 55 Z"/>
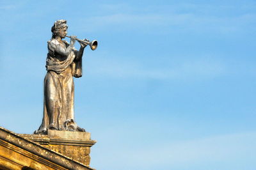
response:
<path id="1" fill-rule="evenodd" d="M 2 127 L 39 127 L 47 41 L 66 19 L 99 42 L 74 80 L 92 167 L 255 169 L 255 1 L 2 0 L 0 13 Z"/>

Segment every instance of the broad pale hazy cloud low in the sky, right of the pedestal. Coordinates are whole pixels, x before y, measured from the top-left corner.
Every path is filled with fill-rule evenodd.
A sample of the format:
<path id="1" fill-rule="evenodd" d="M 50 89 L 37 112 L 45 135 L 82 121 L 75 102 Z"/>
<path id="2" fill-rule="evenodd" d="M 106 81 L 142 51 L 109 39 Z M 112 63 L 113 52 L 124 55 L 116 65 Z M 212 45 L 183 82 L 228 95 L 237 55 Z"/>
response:
<path id="1" fill-rule="evenodd" d="M 220 168 L 227 166 L 229 162 L 233 162 L 229 167 L 234 169 L 236 168 L 236 164 L 234 164 L 236 161 L 239 161 L 241 165 L 245 165 L 246 161 L 252 162 L 248 159 L 248 155 L 252 158 L 256 156 L 255 140 L 256 132 L 244 132 L 179 141 L 177 143 L 159 141 L 150 148 L 141 146 L 141 149 L 136 151 L 127 149 L 119 153 L 118 150 L 111 150 L 111 155 L 119 156 L 118 158 L 108 157 L 108 161 L 112 162 L 111 159 L 115 159 L 115 162 L 118 162 L 118 164 L 115 164 L 116 167 L 132 162 L 132 165 L 127 164 L 129 168 L 137 167 L 140 169 L 156 169 L 157 166 L 160 169 L 161 167 L 165 167 L 164 169 L 196 169 L 196 167 L 205 169 L 204 166 L 207 167 L 210 164 Z M 106 155 L 108 154 L 106 153 Z M 214 169 L 214 167 L 211 167 L 211 169 Z"/>

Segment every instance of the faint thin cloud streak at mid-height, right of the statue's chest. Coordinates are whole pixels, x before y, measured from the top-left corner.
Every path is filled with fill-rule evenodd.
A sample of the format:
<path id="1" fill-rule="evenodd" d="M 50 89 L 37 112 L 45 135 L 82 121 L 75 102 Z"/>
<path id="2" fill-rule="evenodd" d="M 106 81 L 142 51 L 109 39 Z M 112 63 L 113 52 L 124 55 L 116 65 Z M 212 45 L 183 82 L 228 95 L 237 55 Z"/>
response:
<path id="1" fill-rule="evenodd" d="M 98 63 L 98 62 L 95 62 Z M 227 73 L 227 66 L 217 61 L 186 61 L 175 66 L 165 68 L 151 68 L 142 63 L 127 63 L 124 61 L 101 61 L 92 66 L 90 72 L 114 78 L 142 78 L 142 79 L 205 79 Z"/>

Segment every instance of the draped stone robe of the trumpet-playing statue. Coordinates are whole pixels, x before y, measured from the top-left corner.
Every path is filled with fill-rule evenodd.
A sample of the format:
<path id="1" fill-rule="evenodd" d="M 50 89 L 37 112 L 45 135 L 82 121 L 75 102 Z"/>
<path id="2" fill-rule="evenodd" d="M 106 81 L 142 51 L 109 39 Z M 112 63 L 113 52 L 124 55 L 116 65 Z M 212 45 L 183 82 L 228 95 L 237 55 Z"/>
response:
<path id="1" fill-rule="evenodd" d="M 82 59 L 77 59 L 77 50 L 71 50 L 68 56 L 61 56 L 55 50 L 57 45 L 65 50 L 65 45 L 52 38 L 48 43 L 46 59 L 47 73 L 44 79 L 44 117 L 39 129 L 40 134 L 47 128 L 67 130 L 67 120 L 74 122 L 74 77 L 82 76 Z"/>

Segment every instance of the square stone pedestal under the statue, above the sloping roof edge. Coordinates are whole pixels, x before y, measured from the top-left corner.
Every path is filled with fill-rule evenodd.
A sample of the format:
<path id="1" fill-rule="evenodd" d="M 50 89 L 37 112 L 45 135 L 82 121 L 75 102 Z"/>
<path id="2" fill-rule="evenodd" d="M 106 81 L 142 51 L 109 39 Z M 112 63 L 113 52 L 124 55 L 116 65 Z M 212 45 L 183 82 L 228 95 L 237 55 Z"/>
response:
<path id="1" fill-rule="evenodd" d="M 86 166 L 90 164 L 90 148 L 96 143 L 89 132 L 48 130 L 45 135 L 19 135 Z"/>

